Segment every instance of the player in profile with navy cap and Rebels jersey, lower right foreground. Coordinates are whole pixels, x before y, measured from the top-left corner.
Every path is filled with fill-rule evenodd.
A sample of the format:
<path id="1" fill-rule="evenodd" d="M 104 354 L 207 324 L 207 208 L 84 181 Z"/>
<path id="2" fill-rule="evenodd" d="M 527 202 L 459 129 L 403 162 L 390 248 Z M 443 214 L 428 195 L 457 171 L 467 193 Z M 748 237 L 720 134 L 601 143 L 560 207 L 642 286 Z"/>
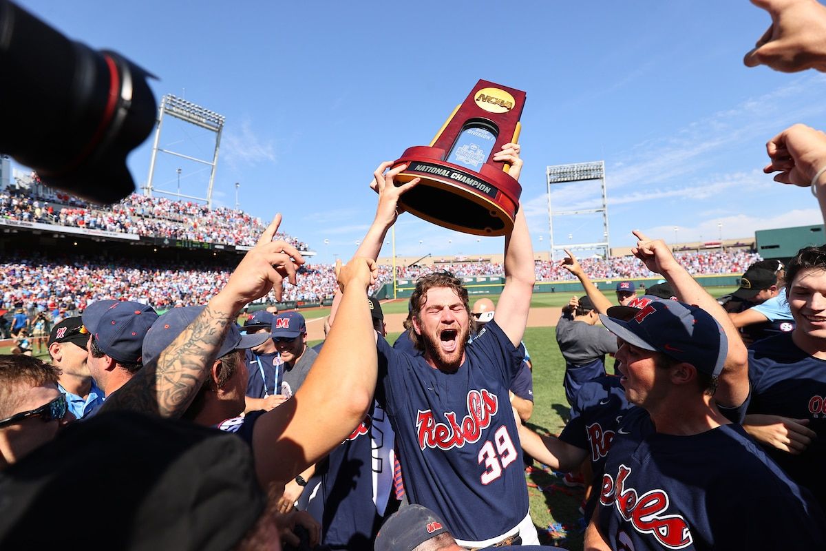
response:
<path id="1" fill-rule="evenodd" d="M 633 254 L 673 276 L 667 245 L 635 235 Z M 697 298 L 703 307 L 663 301 L 627 321 L 601 316 L 620 339 L 625 397 L 639 407 L 616 430 L 586 548 L 820 549 L 823 511 L 714 404 L 718 384 L 726 405 L 742 392 L 724 374 L 743 370 L 746 351 L 722 307 Z M 783 530 L 746 528 L 769 523 Z"/>

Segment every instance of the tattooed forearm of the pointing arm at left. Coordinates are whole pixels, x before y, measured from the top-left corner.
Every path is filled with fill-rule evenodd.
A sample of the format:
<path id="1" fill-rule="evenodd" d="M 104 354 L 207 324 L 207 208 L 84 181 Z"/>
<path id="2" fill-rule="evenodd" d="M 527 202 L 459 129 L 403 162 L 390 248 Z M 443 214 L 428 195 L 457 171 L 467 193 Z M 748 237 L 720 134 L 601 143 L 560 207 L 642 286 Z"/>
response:
<path id="1" fill-rule="evenodd" d="M 209 376 L 233 317 L 233 312 L 207 304 L 195 321 L 160 354 L 155 393 L 161 416 L 181 416 L 192 403 Z"/>

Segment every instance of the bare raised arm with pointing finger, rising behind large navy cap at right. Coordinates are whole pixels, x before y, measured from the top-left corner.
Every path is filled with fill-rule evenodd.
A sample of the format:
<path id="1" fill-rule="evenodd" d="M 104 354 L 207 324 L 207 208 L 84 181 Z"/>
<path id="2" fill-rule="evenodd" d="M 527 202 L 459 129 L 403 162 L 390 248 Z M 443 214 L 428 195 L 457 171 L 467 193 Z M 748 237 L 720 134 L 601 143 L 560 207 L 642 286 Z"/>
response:
<path id="1" fill-rule="evenodd" d="M 721 405 L 737 407 L 748 397 L 748 351 L 740 338 L 737 328 L 729 314 L 714 297 L 697 283 L 691 274 L 676 261 L 671 249 L 663 240 L 652 240 L 642 232 L 634 230 L 637 246 L 631 253 L 654 273 L 662 274 L 671 283 L 676 297 L 686 304 L 700 306 L 707 311 L 723 328 L 729 341 L 729 354 L 720 373 L 717 392 L 714 399 Z"/>

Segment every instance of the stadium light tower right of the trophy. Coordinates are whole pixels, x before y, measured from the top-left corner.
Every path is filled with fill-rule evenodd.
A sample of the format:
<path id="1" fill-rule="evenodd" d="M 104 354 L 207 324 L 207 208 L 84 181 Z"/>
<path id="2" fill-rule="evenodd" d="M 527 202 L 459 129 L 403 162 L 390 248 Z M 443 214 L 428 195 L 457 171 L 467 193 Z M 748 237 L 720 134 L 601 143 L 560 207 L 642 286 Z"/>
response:
<path id="1" fill-rule="evenodd" d="M 608 231 L 608 194 L 605 192 L 605 161 L 590 163 L 556 164 L 548 166 L 548 237 L 551 245 L 551 260 L 556 259 L 559 249 L 597 249 L 602 251 L 602 257 L 607 259 L 610 253 Z M 601 185 L 601 207 L 580 209 L 577 211 L 553 211 L 551 207 L 551 185 L 555 183 L 584 182 L 599 180 Z M 553 240 L 553 216 L 577 216 L 583 214 L 602 213 L 602 240 L 596 243 L 572 243 L 570 245 L 556 245 Z M 568 235 L 572 240 L 573 236 Z"/>

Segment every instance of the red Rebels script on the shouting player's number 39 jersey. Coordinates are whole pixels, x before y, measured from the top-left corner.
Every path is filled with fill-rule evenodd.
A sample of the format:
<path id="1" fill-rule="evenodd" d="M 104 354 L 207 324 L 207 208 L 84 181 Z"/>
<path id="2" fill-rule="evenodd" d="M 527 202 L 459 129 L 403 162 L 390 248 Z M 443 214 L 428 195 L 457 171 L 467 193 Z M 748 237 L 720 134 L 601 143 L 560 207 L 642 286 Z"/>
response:
<path id="1" fill-rule="evenodd" d="M 499 410 L 496 394 L 487 389 L 468 392 L 468 415 L 459 422 L 456 413 L 447 411 L 444 418 L 448 421 L 437 423 L 430 410 L 419 411 L 415 425 L 419 431 L 419 447 L 451 449 L 461 448 L 466 442 L 476 443 L 482 437 L 482 430 L 491 425 L 491 418 Z"/>

